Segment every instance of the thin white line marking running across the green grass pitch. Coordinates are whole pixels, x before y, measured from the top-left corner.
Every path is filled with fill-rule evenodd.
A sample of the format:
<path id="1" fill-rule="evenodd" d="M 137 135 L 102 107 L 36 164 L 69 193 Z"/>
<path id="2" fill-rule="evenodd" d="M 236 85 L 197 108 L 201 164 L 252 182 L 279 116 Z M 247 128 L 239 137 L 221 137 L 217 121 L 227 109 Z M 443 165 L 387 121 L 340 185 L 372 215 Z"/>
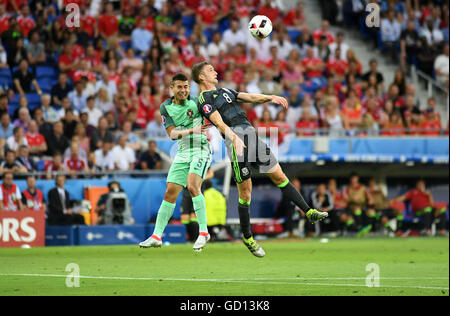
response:
<path id="1" fill-rule="evenodd" d="M 6 274 L 0 273 L 0 276 L 24 276 L 24 277 L 56 277 L 66 278 L 64 274 Z M 284 284 L 284 285 L 315 285 L 315 286 L 353 286 L 353 287 L 367 287 L 364 284 L 337 284 L 337 283 L 309 283 L 309 282 L 274 282 L 260 280 L 238 280 L 238 279 L 176 279 L 176 278 L 137 278 L 137 277 L 114 277 L 114 276 L 82 276 L 81 279 L 103 279 L 103 280 L 137 280 L 137 281 L 188 281 L 188 282 L 216 282 L 216 283 L 247 283 L 247 284 Z M 332 278 L 329 278 L 332 279 Z M 339 278 L 338 278 L 339 279 Z M 352 279 L 352 278 L 342 278 Z M 414 279 L 414 278 L 412 278 Z M 420 278 L 419 278 L 420 279 Z M 448 290 L 448 287 L 438 286 L 421 286 L 421 285 L 382 285 L 380 288 L 411 288 L 424 290 Z"/>

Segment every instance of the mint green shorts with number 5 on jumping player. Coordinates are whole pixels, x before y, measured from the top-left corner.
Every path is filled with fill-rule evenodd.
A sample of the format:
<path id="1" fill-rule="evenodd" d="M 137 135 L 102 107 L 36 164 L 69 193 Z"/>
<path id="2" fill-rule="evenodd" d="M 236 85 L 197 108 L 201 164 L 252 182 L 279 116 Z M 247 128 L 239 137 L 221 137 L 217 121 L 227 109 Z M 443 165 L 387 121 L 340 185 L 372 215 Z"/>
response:
<path id="1" fill-rule="evenodd" d="M 205 179 L 206 172 L 211 166 L 211 155 L 194 156 L 191 162 L 174 162 L 167 176 L 167 183 L 176 183 L 183 187 L 187 186 L 188 174 L 194 173 Z"/>

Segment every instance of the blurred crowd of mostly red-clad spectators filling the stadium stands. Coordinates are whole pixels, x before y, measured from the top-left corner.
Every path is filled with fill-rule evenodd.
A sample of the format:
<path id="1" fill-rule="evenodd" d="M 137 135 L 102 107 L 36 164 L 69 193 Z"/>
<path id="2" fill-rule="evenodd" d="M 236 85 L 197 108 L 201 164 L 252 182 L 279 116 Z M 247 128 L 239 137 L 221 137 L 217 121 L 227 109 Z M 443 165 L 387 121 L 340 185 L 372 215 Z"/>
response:
<path id="1" fill-rule="evenodd" d="M 160 169 L 151 141 L 167 137 L 159 105 L 171 77 L 204 60 L 223 87 L 288 98 L 288 111 L 242 105 L 255 127 L 279 130 L 279 143 L 448 135 L 436 100 L 422 104 L 407 75 L 414 64 L 448 88 L 448 1 L 368 1 L 382 9 L 373 29 L 360 23 L 367 1 L 321 2 L 326 19 L 310 29 L 302 2 L 283 12 L 270 0 L 0 0 L 0 172 Z M 270 39 L 248 32 L 256 14 L 272 20 Z M 330 22 L 358 28 L 398 61 L 394 81 Z M 351 214 L 338 222 L 350 227 Z"/>

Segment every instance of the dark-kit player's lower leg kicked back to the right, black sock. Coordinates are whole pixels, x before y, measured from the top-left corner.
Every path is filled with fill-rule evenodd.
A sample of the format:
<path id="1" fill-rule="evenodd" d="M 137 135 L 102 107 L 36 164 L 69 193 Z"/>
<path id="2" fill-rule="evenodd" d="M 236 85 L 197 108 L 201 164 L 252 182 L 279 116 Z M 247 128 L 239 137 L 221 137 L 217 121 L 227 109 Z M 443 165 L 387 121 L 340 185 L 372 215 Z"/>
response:
<path id="1" fill-rule="evenodd" d="M 306 214 L 306 217 L 312 224 L 321 221 L 328 216 L 327 212 L 319 212 L 316 209 L 312 209 L 308 203 L 305 202 L 303 196 L 284 174 L 280 164 L 277 164 L 270 170 L 268 176 L 272 182 L 280 188 L 282 194 L 294 202 L 294 204 Z"/>

